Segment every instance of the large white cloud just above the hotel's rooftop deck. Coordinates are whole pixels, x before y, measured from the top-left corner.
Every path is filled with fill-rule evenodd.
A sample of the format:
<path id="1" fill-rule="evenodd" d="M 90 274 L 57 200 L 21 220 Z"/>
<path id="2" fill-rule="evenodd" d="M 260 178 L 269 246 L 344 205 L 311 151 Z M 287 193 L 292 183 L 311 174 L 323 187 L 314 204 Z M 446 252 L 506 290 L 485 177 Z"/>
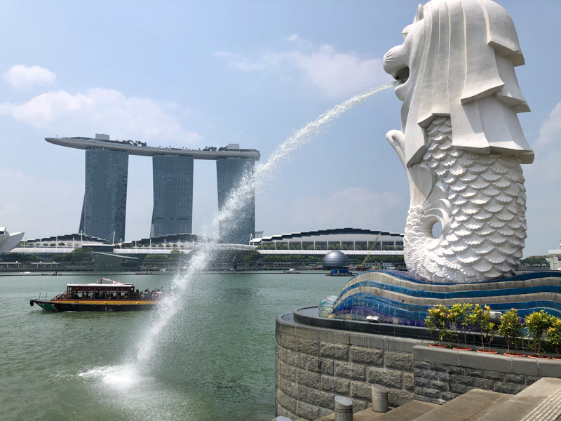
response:
<path id="1" fill-rule="evenodd" d="M 22 104 L 0 104 L 0 115 L 35 128 L 48 129 L 53 135 L 93 136 L 109 133 L 114 139 L 161 142 L 161 146 L 189 145 L 202 140 L 196 132 L 187 132 L 180 120 L 188 109 L 174 102 L 149 98 L 126 98 L 114 89 L 92 88 L 72 95 L 53 91 L 37 95 Z"/>

